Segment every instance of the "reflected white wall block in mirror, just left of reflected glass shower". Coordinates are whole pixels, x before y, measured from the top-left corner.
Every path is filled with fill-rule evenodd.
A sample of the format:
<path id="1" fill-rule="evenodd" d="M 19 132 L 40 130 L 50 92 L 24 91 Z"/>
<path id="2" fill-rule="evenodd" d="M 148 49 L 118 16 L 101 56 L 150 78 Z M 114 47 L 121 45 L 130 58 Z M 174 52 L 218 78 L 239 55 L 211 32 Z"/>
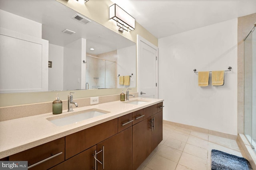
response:
<path id="1" fill-rule="evenodd" d="M 85 89 L 86 39 L 80 38 L 64 47 L 64 90 Z M 76 83 L 74 83 L 76 82 Z"/>

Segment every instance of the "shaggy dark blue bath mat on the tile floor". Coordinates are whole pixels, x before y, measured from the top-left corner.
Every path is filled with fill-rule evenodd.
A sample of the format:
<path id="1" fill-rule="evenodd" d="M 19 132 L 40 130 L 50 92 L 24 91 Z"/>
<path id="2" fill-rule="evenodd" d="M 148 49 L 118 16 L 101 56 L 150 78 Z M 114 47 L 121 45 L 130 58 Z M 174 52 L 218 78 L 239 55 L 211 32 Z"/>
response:
<path id="1" fill-rule="evenodd" d="M 246 158 L 212 149 L 212 170 L 252 170 Z"/>

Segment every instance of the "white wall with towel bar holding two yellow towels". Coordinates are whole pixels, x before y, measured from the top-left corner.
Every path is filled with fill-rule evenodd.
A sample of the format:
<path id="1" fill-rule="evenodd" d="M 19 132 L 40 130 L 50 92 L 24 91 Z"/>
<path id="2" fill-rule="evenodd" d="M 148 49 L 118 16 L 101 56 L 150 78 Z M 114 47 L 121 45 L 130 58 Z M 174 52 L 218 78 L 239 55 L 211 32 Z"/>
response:
<path id="1" fill-rule="evenodd" d="M 237 19 L 159 39 L 163 119 L 237 135 Z M 227 70 L 224 86 L 198 86 L 198 71 Z M 211 74 L 210 74 L 211 78 Z"/>

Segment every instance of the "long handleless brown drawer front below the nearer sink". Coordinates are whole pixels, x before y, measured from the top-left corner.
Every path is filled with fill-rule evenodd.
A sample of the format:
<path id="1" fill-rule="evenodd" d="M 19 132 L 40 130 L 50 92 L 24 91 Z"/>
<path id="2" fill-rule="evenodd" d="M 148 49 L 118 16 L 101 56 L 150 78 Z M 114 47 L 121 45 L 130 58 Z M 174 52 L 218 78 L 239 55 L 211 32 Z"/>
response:
<path id="1" fill-rule="evenodd" d="M 115 135 L 118 118 L 66 136 L 66 159 Z"/>

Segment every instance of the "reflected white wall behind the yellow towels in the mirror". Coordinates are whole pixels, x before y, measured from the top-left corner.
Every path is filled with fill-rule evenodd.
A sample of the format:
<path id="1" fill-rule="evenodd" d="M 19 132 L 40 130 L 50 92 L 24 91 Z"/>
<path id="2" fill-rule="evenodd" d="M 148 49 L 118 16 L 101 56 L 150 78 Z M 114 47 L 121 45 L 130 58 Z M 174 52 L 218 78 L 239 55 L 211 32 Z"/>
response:
<path id="1" fill-rule="evenodd" d="M 136 87 L 136 59 L 131 57 L 136 56 L 136 45 L 118 49 L 117 50 L 117 75 L 131 76 L 130 86 L 124 86 L 119 84 L 119 78 L 117 79 L 117 88 L 134 88 Z M 134 81 L 132 81 L 132 79 Z"/>

